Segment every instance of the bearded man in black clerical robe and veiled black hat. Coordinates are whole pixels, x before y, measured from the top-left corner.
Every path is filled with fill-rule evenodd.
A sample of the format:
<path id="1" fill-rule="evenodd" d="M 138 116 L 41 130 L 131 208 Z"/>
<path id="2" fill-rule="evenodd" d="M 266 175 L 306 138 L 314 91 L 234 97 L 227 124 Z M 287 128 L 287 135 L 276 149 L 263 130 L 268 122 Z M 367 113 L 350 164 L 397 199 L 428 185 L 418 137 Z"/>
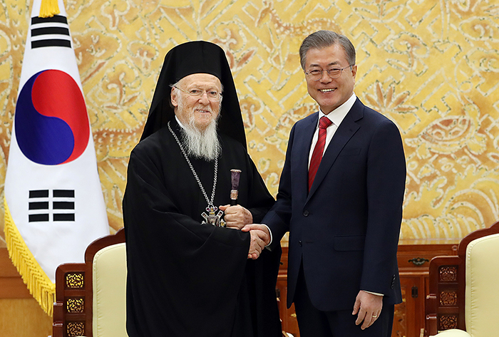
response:
<path id="1" fill-rule="evenodd" d="M 199 73 L 220 80 L 222 98 L 205 82 L 185 87 L 183 79 Z M 197 83 L 202 83 L 202 93 L 192 89 Z M 190 113 L 190 105 L 177 105 L 179 95 L 187 103 L 199 97 L 196 104 L 206 102 L 206 110 L 223 101 L 216 160 L 185 155 L 186 125 L 180 120 L 182 113 Z M 259 258 L 248 259 L 254 257 L 256 234 L 202 224 L 207 200 L 216 207 L 230 204 L 231 169 L 241 174 L 239 208 L 230 209 L 242 209 L 259 222 L 274 199 L 247 154 L 225 53 L 205 41 L 183 43 L 165 57 L 144 133 L 128 164 L 123 220 L 129 337 L 282 336 L 275 295 L 280 249 L 259 247 Z"/>

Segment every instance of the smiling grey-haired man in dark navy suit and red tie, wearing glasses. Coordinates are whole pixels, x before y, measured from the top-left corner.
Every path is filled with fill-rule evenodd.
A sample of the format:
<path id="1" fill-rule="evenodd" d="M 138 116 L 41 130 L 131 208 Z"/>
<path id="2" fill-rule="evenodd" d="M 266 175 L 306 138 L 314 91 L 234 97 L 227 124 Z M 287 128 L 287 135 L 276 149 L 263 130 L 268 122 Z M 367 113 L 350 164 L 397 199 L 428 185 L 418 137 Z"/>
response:
<path id="1" fill-rule="evenodd" d="M 269 248 L 289 231 L 287 304 L 295 304 L 300 336 L 388 337 L 401 302 L 401 135 L 356 98 L 355 48 L 346 36 L 312 33 L 300 59 L 320 110 L 289 135 L 277 202 L 262 220 Z"/>

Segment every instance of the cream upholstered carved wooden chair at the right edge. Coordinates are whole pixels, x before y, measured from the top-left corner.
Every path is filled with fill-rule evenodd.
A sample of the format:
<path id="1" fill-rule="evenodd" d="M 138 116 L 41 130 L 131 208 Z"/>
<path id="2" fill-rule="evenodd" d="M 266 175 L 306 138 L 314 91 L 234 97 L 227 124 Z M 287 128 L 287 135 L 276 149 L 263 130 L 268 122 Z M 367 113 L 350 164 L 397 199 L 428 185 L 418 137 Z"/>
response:
<path id="1" fill-rule="evenodd" d="M 494 232 L 499 232 L 499 222 L 463 239 L 458 256 L 431 261 L 438 268 L 430 266 L 428 336 L 499 336 L 499 234 L 490 234 Z M 437 286 L 432 286 L 432 273 L 440 281 Z M 441 331 L 444 328 L 449 329 Z M 436 334 L 437 330 L 441 332 Z"/>

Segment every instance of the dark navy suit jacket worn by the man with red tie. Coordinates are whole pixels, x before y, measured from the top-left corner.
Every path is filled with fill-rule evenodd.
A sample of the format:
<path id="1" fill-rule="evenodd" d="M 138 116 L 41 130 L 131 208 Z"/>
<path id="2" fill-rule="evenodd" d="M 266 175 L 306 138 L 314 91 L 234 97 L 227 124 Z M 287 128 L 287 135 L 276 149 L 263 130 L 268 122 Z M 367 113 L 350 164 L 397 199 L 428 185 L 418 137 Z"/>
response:
<path id="1" fill-rule="evenodd" d="M 287 306 L 302 261 L 310 299 L 319 310 L 351 310 L 360 290 L 398 304 L 396 252 L 406 181 L 401 135 L 391 120 L 357 98 L 307 192 L 318 115 L 293 126 L 277 202 L 262 220 L 274 237 L 271 249 L 289 231 Z"/>

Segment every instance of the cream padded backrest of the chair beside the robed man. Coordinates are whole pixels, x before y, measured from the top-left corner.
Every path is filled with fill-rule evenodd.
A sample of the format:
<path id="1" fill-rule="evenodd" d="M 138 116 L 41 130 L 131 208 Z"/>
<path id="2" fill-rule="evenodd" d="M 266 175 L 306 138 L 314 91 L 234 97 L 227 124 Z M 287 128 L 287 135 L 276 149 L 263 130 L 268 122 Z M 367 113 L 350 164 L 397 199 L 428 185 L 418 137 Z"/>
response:
<path id="1" fill-rule="evenodd" d="M 99 250 L 93 257 L 93 337 L 125 337 L 125 243 Z"/>

